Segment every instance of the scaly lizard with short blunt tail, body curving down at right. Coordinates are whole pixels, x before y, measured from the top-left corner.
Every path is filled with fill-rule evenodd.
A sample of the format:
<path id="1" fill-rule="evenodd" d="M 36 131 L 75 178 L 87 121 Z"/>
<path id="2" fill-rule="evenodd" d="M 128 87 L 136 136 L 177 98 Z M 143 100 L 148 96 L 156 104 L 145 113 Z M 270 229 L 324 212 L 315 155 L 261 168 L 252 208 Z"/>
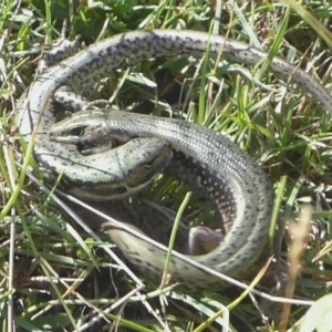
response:
<path id="1" fill-rule="evenodd" d="M 56 123 L 51 137 L 60 143 L 97 144 L 105 138 L 162 137 L 174 148 L 180 167 L 165 172 L 203 190 L 221 215 L 229 231 L 218 247 L 194 261 L 229 277 L 240 277 L 267 249 L 273 195 L 263 170 L 238 146 L 218 133 L 181 120 L 121 111 L 84 111 Z M 166 252 L 124 231 L 107 227 L 108 235 L 137 269 L 155 280 L 163 276 Z M 268 250 L 266 250 L 268 252 Z M 187 288 L 220 288 L 219 278 L 173 257 L 172 281 Z"/>

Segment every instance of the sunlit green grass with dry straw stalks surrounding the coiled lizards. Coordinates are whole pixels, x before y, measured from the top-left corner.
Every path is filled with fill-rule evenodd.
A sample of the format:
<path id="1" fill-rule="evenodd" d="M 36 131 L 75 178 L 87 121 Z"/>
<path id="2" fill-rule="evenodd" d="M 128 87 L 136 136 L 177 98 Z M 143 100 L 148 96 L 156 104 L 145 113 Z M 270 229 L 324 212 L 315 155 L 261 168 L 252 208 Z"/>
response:
<path id="1" fill-rule="evenodd" d="M 8 319 L 13 320 L 17 331 L 83 331 L 82 326 L 98 314 L 103 319 L 96 319 L 93 331 L 111 325 L 115 330 L 121 325 L 127 331 L 163 331 L 157 320 L 166 331 L 166 325 L 169 331 L 220 331 L 221 326 L 226 326 L 225 331 L 278 329 L 271 320 L 262 322 L 248 297 L 237 301 L 241 292 L 236 288 L 184 294 L 176 290 L 159 291 L 146 281 L 145 300 L 131 278 L 111 270 L 117 263 L 110 262 L 105 253 L 111 246 L 106 235 L 98 232 L 102 239 L 93 239 L 68 212 L 72 209 L 83 216 L 96 231 L 100 218 L 65 200 L 55 204 L 31 176 L 19 181 L 20 169 L 14 160 L 20 151 L 12 144 L 17 136 L 10 134 L 15 101 L 33 81 L 38 56 L 45 43 L 60 35 L 64 19 L 70 22 L 66 34 L 81 34 L 86 44 L 136 29 L 181 28 L 221 32 L 268 51 L 268 61 L 255 68 L 226 62 L 215 68 L 207 61 L 187 59 L 144 61 L 103 82 L 96 97 L 158 115 L 180 111 L 189 121 L 228 135 L 268 173 L 274 185 L 280 219 L 297 218 L 303 204 L 311 203 L 314 211 L 309 218 L 308 243 L 305 235 L 295 241 L 304 251 L 299 256 L 291 249 L 288 255 L 288 234 L 282 257 L 303 261 L 294 298 L 317 302 L 309 323 L 304 315 L 307 307 L 293 307 L 290 314 L 283 307 L 287 325 L 280 325 L 279 331 L 299 331 L 301 320 L 307 319 L 309 326 L 321 319 L 319 314 L 331 315 L 331 304 L 324 298 L 329 295 L 331 280 L 330 120 L 310 96 L 273 76 L 268 64 L 276 54 L 300 63 L 331 91 L 331 52 L 324 43 L 330 44 L 331 39 L 320 24 L 329 21 L 332 6 L 320 1 L 308 1 L 305 8 L 293 1 L 289 2 L 291 7 L 258 1 L 242 1 L 239 7 L 227 3 L 110 0 L 93 1 L 87 8 L 84 1 L 68 6 L 59 0 L 45 6 L 37 0 L 19 4 L 7 0 L 0 4 L 2 331 L 12 331 Z M 41 174 L 34 176 L 42 184 Z M 167 245 L 165 234 L 170 234 L 187 190 L 162 178 L 143 200 L 127 204 L 129 209 L 118 205 L 97 208 L 107 208 L 108 214 L 116 211 L 120 220 L 137 219 L 147 234 L 153 232 Z M 310 215 L 311 211 L 301 217 L 300 225 L 307 225 Z M 210 207 L 197 193 L 193 193 L 184 217 L 191 224 L 204 220 L 214 225 Z M 292 295 L 292 289 L 288 291 Z M 230 312 L 224 307 L 229 303 L 234 303 Z M 313 330 L 309 326 L 302 331 Z"/>

